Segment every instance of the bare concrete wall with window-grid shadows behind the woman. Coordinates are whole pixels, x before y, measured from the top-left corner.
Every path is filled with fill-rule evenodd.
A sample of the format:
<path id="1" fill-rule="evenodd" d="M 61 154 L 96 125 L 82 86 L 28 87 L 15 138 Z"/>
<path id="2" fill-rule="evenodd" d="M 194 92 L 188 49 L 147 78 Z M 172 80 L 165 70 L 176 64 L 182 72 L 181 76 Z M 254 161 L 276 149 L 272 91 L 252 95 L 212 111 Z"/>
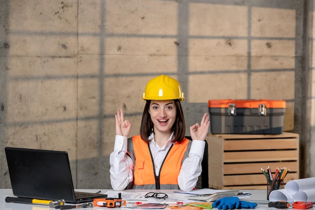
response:
<path id="1" fill-rule="evenodd" d="M 123 108 L 138 134 L 145 84 L 160 74 L 182 84 L 187 128 L 211 99 L 285 100 L 284 130 L 302 136 L 301 176 L 315 175 L 312 1 L 0 5 L 1 188 L 11 187 L 7 146 L 67 151 L 76 188 L 111 188 L 114 114 Z"/>

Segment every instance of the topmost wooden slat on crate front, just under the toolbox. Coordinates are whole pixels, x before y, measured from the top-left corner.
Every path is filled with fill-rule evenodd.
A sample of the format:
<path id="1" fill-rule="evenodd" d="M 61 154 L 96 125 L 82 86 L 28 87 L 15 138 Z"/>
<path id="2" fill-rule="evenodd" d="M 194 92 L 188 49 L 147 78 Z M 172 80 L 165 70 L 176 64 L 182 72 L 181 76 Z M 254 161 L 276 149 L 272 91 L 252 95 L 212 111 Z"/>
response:
<path id="1" fill-rule="evenodd" d="M 296 138 L 237 139 L 224 141 L 224 151 L 296 149 Z"/>

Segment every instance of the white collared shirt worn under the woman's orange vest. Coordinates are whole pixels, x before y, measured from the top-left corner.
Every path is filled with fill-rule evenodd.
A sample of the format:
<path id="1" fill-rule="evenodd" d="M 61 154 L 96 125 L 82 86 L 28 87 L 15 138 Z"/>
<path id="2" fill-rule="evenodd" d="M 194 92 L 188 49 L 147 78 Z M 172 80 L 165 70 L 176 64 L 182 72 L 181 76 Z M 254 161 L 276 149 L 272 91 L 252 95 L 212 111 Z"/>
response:
<path id="1" fill-rule="evenodd" d="M 155 167 L 155 175 L 159 175 L 161 165 L 167 155 L 172 143 L 173 133 L 168 142 L 162 148 L 154 141 L 151 133 L 149 147 Z M 175 143 L 176 144 L 176 143 Z M 205 148 L 204 141 L 193 140 L 189 151 L 189 157 L 183 162 L 181 171 L 178 175 L 178 185 L 183 191 L 191 191 L 198 181 L 201 174 L 201 161 Z M 114 151 L 110 154 L 110 179 L 114 190 L 124 190 L 133 180 L 133 161 L 126 155 L 127 137 L 116 135 Z"/>

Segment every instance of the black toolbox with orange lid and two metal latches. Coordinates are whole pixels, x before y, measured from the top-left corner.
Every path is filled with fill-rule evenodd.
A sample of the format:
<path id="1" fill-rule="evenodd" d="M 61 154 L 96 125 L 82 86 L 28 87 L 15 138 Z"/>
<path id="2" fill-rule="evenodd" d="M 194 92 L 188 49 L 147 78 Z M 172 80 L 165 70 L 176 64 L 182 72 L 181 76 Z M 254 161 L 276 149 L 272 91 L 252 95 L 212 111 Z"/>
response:
<path id="1" fill-rule="evenodd" d="M 281 134 L 285 101 L 209 100 L 210 132 L 213 134 Z"/>

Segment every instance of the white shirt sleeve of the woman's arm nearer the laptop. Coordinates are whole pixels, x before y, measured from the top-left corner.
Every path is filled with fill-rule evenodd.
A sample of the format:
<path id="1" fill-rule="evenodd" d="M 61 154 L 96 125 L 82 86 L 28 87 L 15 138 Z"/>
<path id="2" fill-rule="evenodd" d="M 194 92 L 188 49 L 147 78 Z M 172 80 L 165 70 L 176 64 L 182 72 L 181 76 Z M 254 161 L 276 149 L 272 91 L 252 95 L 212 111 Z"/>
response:
<path id="1" fill-rule="evenodd" d="M 114 151 L 110 154 L 110 179 L 114 190 L 124 190 L 133 180 L 133 162 L 127 153 L 127 137 L 116 135 Z"/>

